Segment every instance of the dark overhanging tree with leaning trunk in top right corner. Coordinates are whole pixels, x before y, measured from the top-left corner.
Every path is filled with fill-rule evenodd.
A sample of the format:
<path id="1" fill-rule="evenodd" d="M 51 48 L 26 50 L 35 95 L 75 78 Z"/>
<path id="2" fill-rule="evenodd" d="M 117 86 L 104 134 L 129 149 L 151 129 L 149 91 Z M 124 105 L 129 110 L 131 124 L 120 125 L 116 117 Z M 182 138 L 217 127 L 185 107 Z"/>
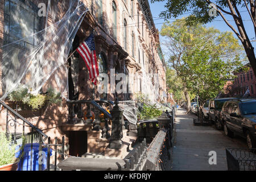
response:
<path id="1" fill-rule="evenodd" d="M 187 25 L 197 23 L 209 23 L 212 22 L 217 16 L 225 21 L 225 23 L 231 28 L 240 39 L 242 46 L 246 52 L 246 56 L 250 61 L 251 67 L 253 68 L 254 75 L 256 76 L 256 57 L 254 53 L 254 47 L 251 45 L 251 41 L 247 35 L 241 11 L 238 10 L 240 7 L 246 7 L 247 13 L 250 15 L 251 22 L 254 26 L 255 37 L 256 37 L 256 1 L 253 0 L 151 0 L 151 2 L 167 1 L 165 7 L 166 11 L 160 13 L 161 17 L 166 19 L 177 18 L 177 16 L 191 11 L 185 22 Z M 216 15 L 212 16 L 209 14 L 209 10 L 216 11 Z M 227 16 L 232 16 L 236 24 L 236 28 L 229 23 Z"/>

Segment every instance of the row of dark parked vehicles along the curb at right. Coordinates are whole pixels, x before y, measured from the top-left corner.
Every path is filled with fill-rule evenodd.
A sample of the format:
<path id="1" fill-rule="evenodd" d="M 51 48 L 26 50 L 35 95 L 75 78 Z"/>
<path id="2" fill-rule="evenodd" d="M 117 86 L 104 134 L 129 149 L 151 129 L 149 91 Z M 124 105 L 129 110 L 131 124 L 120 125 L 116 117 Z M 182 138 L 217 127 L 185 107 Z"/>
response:
<path id="1" fill-rule="evenodd" d="M 218 130 L 233 137 L 246 138 L 249 148 L 256 148 L 256 99 L 217 98 L 205 102 L 203 117 Z"/>

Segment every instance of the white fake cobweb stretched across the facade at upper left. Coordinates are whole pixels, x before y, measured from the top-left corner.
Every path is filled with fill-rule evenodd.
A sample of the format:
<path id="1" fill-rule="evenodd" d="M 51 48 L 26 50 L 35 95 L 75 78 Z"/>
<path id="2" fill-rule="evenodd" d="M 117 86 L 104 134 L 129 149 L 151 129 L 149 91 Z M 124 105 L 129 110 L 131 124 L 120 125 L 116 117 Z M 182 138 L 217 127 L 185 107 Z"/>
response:
<path id="1" fill-rule="evenodd" d="M 11 1 L 8 1 L 11 3 Z M 16 8 L 13 18 L 16 20 L 16 29 L 19 29 L 19 40 L 5 40 L 2 49 L 2 91 L 0 98 L 4 100 L 10 92 L 26 86 L 31 93 L 37 94 L 49 82 L 55 85 L 56 91 L 64 98 L 68 98 L 68 69 L 65 63 L 72 48 L 73 39 L 79 30 L 82 19 L 88 8 L 80 0 L 52 3 L 48 5 L 47 27 L 32 35 L 27 35 L 27 24 L 19 18 L 22 10 Z M 62 18 L 58 10 L 65 9 Z M 49 24 L 48 15 L 52 16 L 53 23 Z M 59 18 L 59 20 L 58 20 Z M 55 21 L 54 21 L 55 20 Z M 29 21 L 29 20 L 28 20 Z M 13 34 L 16 31 L 15 27 Z M 9 31 L 9 35 L 10 35 Z M 23 36 L 24 35 L 24 36 Z M 15 36 L 15 35 L 14 35 Z M 26 37 L 25 37 L 26 36 Z"/>

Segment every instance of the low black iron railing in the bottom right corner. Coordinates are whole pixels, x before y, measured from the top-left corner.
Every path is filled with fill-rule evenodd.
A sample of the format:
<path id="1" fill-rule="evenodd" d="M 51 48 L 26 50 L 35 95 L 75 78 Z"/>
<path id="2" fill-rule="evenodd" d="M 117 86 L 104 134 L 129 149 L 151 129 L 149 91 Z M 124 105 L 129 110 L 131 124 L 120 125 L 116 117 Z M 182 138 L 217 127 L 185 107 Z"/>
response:
<path id="1" fill-rule="evenodd" d="M 252 152 L 253 151 L 253 152 Z M 226 148 L 229 171 L 256 171 L 256 148 Z"/>

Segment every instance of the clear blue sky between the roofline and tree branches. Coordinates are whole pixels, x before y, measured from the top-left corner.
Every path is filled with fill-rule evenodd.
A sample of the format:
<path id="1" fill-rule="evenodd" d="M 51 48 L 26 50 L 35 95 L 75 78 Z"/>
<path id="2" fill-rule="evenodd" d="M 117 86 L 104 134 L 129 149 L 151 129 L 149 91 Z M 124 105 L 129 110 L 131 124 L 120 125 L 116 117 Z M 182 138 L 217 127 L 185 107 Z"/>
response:
<path id="1" fill-rule="evenodd" d="M 166 1 L 164 2 L 155 2 L 155 3 L 151 3 L 150 0 L 148 0 L 148 2 L 150 3 L 150 9 L 151 9 L 151 13 L 152 16 L 154 17 L 154 22 L 155 22 L 155 27 L 158 28 L 159 32 L 161 30 L 162 24 L 164 23 L 164 19 L 159 17 L 159 14 L 161 13 L 161 11 L 166 10 L 166 8 L 164 7 L 164 5 L 166 4 Z M 249 36 L 249 38 L 251 40 L 255 40 L 255 32 L 254 32 L 254 27 L 253 27 L 253 23 L 250 20 L 250 16 L 247 12 L 246 7 L 238 7 L 238 9 L 241 12 L 241 16 L 242 19 L 244 20 L 243 23 L 245 25 L 245 29 L 247 32 L 247 35 Z M 228 9 L 225 9 L 228 11 Z M 244 11 L 244 12 L 242 12 Z M 179 16 L 177 19 L 180 19 L 184 16 L 187 16 L 189 14 L 185 14 L 185 15 L 181 15 Z M 228 20 L 233 20 L 232 16 L 230 15 L 225 15 L 226 19 Z M 174 18 L 174 17 L 173 17 Z M 174 21 L 174 19 L 171 19 L 170 21 Z M 236 24 L 233 21 L 229 21 L 230 24 L 232 24 L 233 27 L 236 28 Z M 224 20 L 221 18 L 221 16 L 218 16 L 216 19 L 214 19 L 213 22 L 210 22 L 208 24 L 205 24 L 205 26 L 207 27 L 214 27 L 217 28 L 220 31 L 232 31 L 232 29 L 224 22 Z M 233 33 L 234 37 L 237 38 L 237 36 Z M 237 38 L 238 39 L 238 38 Z M 163 37 L 160 36 L 160 43 L 162 42 Z M 239 43 L 240 40 L 239 40 Z M 253 46 L 256 46 L 256 42 L 251 42 L 251 44 L 253 44 Z M 161 46 L 164 52 L 164 46 Z M 165 59 L 167 60 L 168 58 L 165 56 Z"/>

